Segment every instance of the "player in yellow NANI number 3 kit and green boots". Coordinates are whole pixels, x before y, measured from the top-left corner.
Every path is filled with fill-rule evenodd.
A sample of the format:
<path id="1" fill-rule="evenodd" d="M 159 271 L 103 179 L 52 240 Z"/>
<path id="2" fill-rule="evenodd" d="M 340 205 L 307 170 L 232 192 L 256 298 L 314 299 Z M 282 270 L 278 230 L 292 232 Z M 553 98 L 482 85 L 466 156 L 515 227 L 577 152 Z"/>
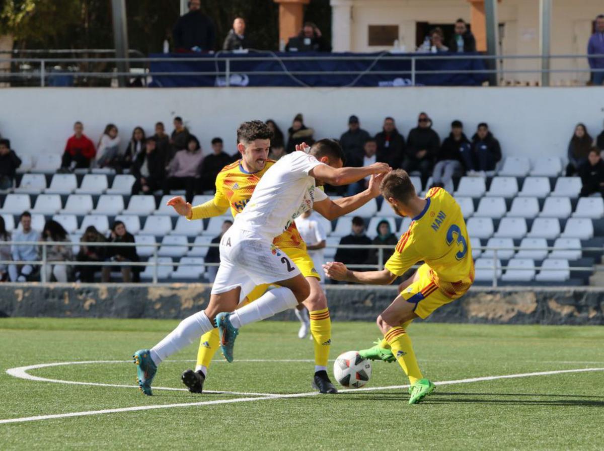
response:
<path id="1" fill-rule="evenodd" d="M 461 208 L 451 194 L 432 188 L 422 199 L 403 170 L 387 174 L 381 191 L 396 214 L 413 219 L 385 269 L 351 271 L 336 262 L 323 268 L 335 280 L 390 284 L 418 261 L 425 262 L 399 286 L 399 296 L 377 317 L 384 340 L 359 351 L 369 359 L 387 360 L 391 350 L 409 377 L 409 403 L 415 404 L 434 391 L 434 384 L 422 376 L 406 328 L 415 318 L 425 319 L 441 305 L 463 296 L 474 282 L 474 261 Z"/>

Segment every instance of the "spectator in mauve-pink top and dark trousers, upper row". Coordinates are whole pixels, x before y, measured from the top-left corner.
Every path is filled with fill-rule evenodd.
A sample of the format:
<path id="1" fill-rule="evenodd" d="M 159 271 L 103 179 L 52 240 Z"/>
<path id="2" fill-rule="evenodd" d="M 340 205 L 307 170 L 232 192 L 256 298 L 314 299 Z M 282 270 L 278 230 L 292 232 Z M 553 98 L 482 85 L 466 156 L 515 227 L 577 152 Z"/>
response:
<path id="1" fill-rule="evenodd" d="M 164 184 L 164 194 L 170 194 L 170 190 L 186 190 L 187 202 L 193 202 L 203 161 L 204 154 L 201 152 L 199 141 L 195 136 L 190 135 L 187 149 L 176 152 L 170 162 L 168 178 Z"/>

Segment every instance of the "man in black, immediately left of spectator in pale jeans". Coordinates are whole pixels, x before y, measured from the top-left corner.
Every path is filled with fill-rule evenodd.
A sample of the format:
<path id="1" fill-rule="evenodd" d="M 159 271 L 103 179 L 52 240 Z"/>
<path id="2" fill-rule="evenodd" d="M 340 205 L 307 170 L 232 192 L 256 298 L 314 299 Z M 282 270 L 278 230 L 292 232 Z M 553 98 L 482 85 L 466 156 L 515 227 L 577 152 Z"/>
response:
<path id="1" fill-rule="evenodd" d="M 403 169 L 408 173 L 420 171 L 422 185 L 426 184 L 434 165 L 434 156 L 439 151 L 440 138 L 431 128 L 432 121 L 424 112 L 417 118 L 417 127 L 411 129 L 407 138 L 407 158 Z"/>

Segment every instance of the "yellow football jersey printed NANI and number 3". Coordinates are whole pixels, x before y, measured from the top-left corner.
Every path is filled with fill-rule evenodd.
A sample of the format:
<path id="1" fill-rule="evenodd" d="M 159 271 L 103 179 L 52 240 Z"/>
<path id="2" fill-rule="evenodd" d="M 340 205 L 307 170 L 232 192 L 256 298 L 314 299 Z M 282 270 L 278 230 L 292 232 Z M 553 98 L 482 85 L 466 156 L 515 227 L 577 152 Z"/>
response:
<path id="1" fill-rule="evenodd" d="M 386 269 L 402 275 L 418 261 L 430 267 L 429 277 L 446 295 L 463 294 L 474 281 L 474 261 L 461 208 L 443 188 L 431 188 L 426 207 L 400 237 Z"/>

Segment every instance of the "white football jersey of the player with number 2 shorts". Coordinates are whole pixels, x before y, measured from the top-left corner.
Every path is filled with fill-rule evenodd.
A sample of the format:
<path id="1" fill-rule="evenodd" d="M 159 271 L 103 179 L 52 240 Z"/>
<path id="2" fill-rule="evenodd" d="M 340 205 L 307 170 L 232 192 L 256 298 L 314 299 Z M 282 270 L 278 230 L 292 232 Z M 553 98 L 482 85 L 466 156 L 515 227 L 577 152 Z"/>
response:
<path id="1" fill-rule="evenodd" d="M 256 185 L 251 199 L 235 217 L 233 227 L 274 238 L 313 203 L 327 199 L 309 171 L 321 163 L 312 155 L 292 152 L 272 165 Z"/>

